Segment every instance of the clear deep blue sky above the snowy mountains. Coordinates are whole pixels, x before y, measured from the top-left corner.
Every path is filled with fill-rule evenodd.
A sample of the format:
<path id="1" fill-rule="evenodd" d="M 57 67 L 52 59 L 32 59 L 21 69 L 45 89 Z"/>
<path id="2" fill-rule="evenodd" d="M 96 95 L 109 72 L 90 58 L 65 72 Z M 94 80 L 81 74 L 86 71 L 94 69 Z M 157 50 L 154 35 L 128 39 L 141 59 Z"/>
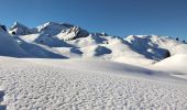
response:
<path id="1" fill-rule="evenodd" d="M 68 22 L 111 35 L 158 34 L 187 40 L 187 0 L 1 0 L 0 23 L 30 28 Z"/>

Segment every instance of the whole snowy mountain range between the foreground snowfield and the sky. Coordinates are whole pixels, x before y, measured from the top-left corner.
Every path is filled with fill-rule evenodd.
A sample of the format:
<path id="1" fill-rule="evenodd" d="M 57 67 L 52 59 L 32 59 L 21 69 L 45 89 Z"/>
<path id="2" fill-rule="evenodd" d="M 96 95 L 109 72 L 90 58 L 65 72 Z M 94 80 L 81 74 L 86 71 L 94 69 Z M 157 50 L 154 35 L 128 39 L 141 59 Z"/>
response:
<path id="1" fill-rule="evenodd" d="M 55 22 L 34 29 L 18 22 L 9 30 L 0 26 L 1 56 L 99 58 L 151 65 L 176 54 L 187 54 L 187 45 L 170 36 L 129 35 L 123 38 Z"/>

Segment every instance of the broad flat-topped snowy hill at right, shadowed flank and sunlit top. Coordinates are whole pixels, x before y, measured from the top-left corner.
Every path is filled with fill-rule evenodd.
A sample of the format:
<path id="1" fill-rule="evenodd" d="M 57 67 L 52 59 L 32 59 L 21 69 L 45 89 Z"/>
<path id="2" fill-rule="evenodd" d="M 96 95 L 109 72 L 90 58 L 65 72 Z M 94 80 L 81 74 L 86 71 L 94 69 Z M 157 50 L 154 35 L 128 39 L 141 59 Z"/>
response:
<path id="1" fill-rule="evenodd" d="M 163 56 L 166 51 L 168 51 L 170 55 L 187 54 L 187 45 L 169 36 L 130 35 L 124 40 L 131 43 L 138 51 L 141 48 L 140 53 L 143 51 L 147 57 L 165 58 Z"/>

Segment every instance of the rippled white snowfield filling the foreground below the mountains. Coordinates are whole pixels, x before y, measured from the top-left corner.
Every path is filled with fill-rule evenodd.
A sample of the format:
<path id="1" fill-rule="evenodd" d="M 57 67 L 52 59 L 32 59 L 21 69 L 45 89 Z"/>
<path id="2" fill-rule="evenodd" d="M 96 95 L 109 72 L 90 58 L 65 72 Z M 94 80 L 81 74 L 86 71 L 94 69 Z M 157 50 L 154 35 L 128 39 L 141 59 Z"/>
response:
<path id="1" fill-rule="evenodd" d="M 96 59 L 0 57 L 0 108 L 187 109 L 187 80 Z"/>

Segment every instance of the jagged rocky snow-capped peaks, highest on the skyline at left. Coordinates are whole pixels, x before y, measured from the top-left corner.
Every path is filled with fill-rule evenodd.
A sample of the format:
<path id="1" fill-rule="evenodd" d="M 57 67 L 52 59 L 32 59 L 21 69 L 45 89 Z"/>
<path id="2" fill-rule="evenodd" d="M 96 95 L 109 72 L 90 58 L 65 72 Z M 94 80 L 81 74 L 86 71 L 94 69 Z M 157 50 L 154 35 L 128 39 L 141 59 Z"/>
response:
<path id="1" fill-rule="evenodd" d="M 58 35 L 64 33 L 65 35 L 70 34 L 76 37 L 89 35 L 89 32 L 82 30 L 79 26 L 68 24 L 68 23 L 56 23 L 56 22 L 46 22 L 34 29 L 30 29 L 19 22 L 14 22 L 14 24 L 10 28 L 9 33 L 13 35 L 29 35 L 29 34 Z M 61 37 L 63 36 L 61 35 Z"/>

